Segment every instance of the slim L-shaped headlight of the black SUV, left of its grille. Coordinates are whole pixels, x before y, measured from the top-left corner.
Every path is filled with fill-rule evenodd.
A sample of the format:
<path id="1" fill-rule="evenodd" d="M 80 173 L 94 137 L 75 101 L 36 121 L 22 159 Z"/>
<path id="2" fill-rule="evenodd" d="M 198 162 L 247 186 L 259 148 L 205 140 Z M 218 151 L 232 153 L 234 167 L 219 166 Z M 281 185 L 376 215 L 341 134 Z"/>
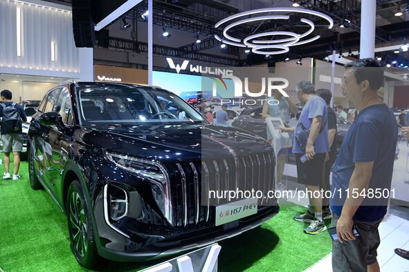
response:
<path id="1" fill-rule="evenodd" d="M 162 164 L 147 159 L 115 153 L 105 153 L 118 168 L 145 177 L 152 186 L 152 195 L 167 222 L 172 224 L 169 176 Z"/>

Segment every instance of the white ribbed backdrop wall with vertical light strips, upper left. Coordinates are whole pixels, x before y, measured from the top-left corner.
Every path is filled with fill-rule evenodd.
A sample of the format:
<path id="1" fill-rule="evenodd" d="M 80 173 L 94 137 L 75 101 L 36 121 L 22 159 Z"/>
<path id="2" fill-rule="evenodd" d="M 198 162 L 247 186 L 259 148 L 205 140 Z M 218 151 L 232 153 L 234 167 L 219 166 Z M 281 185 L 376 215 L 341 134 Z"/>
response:
<path id="1" fill-rule="evenodd" d="M 71 10 L 42 1 L 30 2 L 0 0 L 0 72 L 78 77 L 79 51 L 73 39 Z M 21 57 L 17 55 L 18 9 Z"/>

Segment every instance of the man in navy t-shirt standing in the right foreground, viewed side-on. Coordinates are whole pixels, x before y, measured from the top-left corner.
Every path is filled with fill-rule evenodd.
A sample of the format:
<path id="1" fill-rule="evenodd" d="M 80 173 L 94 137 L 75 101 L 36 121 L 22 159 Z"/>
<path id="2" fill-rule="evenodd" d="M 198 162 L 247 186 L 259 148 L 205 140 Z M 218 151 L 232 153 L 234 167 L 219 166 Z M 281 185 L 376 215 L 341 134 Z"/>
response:
<path id="1" fill-rule="evenodd" d="M 345 67 L 343 94 L 359 114 L 345 135 L 332 173 L 332 226 L 338 236 L 332 244 L 332 269 L 379 271 L 378 226 L 388 206 L 385 190 L 392 182 L 398 127 L 392 110 L 377 95 L 383 84 L 379 62 L 360 59 Z"/>

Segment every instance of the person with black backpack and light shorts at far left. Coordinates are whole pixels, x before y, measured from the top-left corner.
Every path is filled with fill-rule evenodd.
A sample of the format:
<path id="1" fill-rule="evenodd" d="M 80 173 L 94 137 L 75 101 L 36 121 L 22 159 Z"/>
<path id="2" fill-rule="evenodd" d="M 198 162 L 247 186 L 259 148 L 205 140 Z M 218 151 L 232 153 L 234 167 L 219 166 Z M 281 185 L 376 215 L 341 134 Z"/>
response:
<path id="1" fill-rule="evenodd" d="M 11 101 L 12 93 L 10 90 L 2 90 L 0 93 L 0 117 L 1 117 L 1 142 L 3 144 L 3 179 L 10 179 L 10 151 L 13 152 L 14 174 L 13 180 L 19 179 L 20 152 L 23 150 L 23 132 L 21 130 L 21 121 L 27 122 L 26 113 L 19 105 Z M 10 116 L 14 116 L 10 119 Z M 12 129 L 10 129 L 12 128 Z"/>

